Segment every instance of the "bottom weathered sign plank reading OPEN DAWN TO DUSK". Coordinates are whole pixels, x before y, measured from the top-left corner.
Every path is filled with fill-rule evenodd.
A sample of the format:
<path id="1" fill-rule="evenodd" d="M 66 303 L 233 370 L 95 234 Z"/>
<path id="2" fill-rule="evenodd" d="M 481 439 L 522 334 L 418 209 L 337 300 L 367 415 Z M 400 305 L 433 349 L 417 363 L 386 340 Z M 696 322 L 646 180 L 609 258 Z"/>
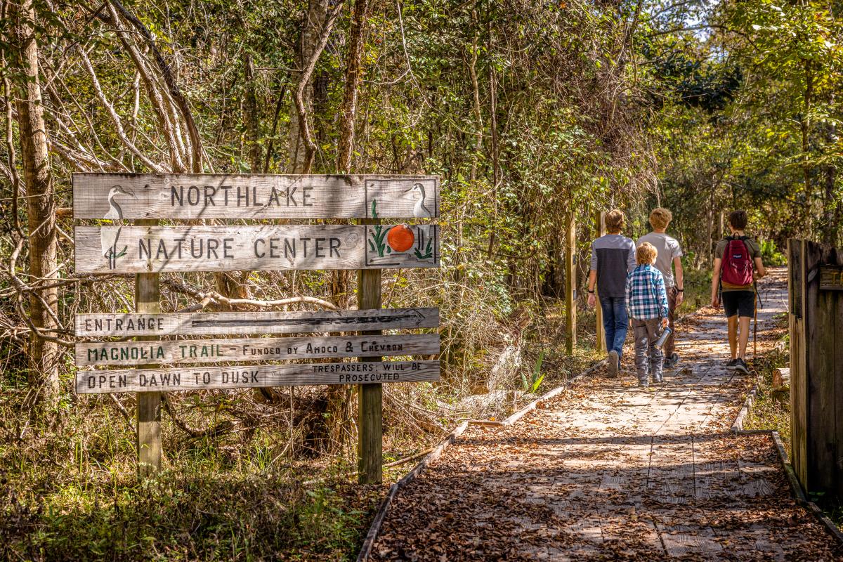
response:
<path id="1" fill-rule="evenodd" d="M 413 383 L 439 380 L 439 361 L 310 363 L 82 371 L 78 394 L 169 392 L 214 388 L 289 387 L 314 384 Z"/>

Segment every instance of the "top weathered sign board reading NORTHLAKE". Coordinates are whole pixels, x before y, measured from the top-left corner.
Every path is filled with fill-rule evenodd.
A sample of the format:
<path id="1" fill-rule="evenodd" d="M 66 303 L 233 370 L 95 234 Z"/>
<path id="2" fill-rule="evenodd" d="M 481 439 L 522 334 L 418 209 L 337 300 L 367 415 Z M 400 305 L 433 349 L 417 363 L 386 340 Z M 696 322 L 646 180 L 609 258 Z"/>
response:
<path id="1" fill-rule="evenodd" d="M 73 217 L 432 218 L 429 175 L 73 174 Z"/>

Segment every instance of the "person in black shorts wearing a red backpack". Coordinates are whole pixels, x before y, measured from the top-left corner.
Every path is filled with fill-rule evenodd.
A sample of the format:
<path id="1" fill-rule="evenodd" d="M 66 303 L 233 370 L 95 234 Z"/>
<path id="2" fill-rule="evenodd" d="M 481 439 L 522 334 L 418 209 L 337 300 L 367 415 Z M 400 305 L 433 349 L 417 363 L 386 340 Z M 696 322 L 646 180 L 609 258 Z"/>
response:
<path id="1" fill-rule="evenodd" d="M 749 341 L 749 319 L 755 312 L 754 281 L 767 274 L 761 261 L 758 244 L 744 235 L 746 211 L 729 214 L 731 235 L 723 238 L 714 249 L 714 272 L 711 275 L 711 306 L 726 313 L 729 349 L 732 358 L 726 368 L 749 372 L 744 356 Z"/>

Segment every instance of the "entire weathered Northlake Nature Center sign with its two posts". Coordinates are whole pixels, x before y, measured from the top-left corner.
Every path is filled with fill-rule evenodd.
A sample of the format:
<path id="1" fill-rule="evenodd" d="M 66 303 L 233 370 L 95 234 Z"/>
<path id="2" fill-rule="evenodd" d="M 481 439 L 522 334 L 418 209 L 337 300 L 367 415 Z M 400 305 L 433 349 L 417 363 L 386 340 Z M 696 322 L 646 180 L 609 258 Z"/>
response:
<path id="1" fill-rule="evenodd" d="M 76 335 L 134 338 L 76 345 L 77 393 L 137 393 L 137 474 L 161 468 L 161 393 L 216 388 L 357 384 L 360 481 L 380 482 L 382 383 L 438 381 L 438 335 L 382 329 L 438 327 L 435 308 L 381 309 L 386 268 L 438 267 L 433 224 L 439 179 L 381 175 L 74 174 L 73 216 L 109 221 L 74 228 L 77 273 L 134 273 L 135 313 L 78 314 Z M 357 218 L 341 225 L 158 226 L 158 219 Z M 134 221 L 124 224 L 123 221 Z M 317 313 L 161 313 L 164 271 L 359 270 L 358 310 Z M 337 337 L 160 340 L 184 335 L 285 335 L 357 330 Z M 359 357 L 357 362 L 239 364 Z M 97 367 L 134 367 L 108 370 Z M 174 366 L 174 367 L 169 367 Z"/>

